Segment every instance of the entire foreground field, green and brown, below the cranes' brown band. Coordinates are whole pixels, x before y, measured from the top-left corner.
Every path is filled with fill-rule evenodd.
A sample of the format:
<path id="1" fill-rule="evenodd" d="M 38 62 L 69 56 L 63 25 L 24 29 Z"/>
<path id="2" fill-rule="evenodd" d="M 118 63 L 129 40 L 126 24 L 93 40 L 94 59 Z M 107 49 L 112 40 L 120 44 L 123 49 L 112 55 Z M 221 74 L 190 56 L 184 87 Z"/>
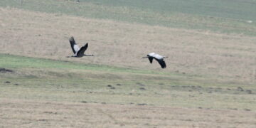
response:
<path id="1" fill-rule="evenodd" d="M 0 59 L 1 68 L 12 70 L 0 73 L 4 127 L 255 126 L 255 87 L 203 84 L 200 78 L 175 73 L 16 55 L 0 54 Z M 184 117 L 189 113 L 193 114 Z"/>

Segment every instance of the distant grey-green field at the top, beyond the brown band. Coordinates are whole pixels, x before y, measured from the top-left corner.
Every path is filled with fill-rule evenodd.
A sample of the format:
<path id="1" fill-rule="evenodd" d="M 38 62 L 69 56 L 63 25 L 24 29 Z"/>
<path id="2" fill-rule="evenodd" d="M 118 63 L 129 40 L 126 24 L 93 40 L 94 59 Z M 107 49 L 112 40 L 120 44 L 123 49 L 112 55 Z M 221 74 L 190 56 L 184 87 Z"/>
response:
<path id="1" fill-rule="evenodd" d="M 0 1 L 2 7 L 248 36 L 255 36 L 256 33 L 255 4 L 256 1 L 252 0 L 23 0 L 22 5 L 16 0 Z"/>

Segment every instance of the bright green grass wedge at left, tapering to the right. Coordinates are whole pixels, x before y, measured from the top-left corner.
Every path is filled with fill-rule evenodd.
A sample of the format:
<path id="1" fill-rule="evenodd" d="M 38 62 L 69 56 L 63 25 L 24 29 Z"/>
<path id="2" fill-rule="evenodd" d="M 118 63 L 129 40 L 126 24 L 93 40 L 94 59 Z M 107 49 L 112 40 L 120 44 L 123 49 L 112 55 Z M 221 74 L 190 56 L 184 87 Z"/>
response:
<path id="1" fill-rule="evenodd" d="M 154 72 L 150 70 L 137 70 L 132 68 L 119 68 L 108 65 L 95 65 L 85 63 L 73 63 L 62 60 L 50 60 L 45 58 L 29 58 L 18 55 L 0 54 L 0 66 L 4 68 L 48 68 L 48 69 L 73 69 L 73 70 L 97 70 L 106 72 L 125 72 L 125 73 L 141 73 L 141 74 L 166 74 Z"/>

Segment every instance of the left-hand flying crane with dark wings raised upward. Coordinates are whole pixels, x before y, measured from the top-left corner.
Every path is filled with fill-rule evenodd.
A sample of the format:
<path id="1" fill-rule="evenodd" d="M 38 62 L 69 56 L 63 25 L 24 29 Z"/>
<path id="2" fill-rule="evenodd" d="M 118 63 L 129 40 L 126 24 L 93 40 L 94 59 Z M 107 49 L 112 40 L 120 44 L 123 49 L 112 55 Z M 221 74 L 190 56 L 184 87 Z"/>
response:
<path id="1" fill-rule="evenodd" d="M 70 46 L 74 53 L 74 55 L 72 55 L 71 57 L 82 58 L 82 56 L 94 56 L 94 55 L 85 54 L 85 50 L 88 47 L 88 43 L 86 43 L 85 46 L 82 46 L 81 48 L 79 48 L 78 44 L 75 43 L 75 39 L 73 36 L 69 38 L 69 41 L 70 41 Z"/>

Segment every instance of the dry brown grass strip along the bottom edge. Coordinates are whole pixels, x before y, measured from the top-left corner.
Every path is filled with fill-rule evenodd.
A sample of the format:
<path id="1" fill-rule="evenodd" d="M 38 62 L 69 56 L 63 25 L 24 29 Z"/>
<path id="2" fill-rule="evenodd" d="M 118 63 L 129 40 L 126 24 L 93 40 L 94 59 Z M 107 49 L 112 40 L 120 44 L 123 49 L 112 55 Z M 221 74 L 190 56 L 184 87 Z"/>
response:
<path id="1" fill-rule="evenodd" d="M 0 127 L 255 127 L 256 113 L 0 99 Z"/>

